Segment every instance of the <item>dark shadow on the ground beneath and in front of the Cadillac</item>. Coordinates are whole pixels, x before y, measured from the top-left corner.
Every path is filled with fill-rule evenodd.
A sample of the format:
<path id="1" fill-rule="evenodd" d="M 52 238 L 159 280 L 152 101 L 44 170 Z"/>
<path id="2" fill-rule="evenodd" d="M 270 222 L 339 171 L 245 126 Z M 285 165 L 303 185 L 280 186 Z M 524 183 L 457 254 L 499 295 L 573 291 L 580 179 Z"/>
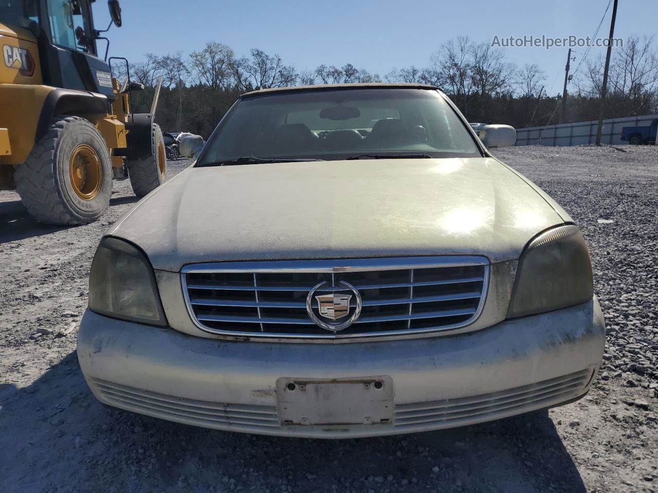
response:
<path id="1" fill-rule="evenodd" d="M 104 408 L 75 352 L 34 385 L 0 395 L 7 493 L 586 491 L 546 411 L 357 440 L 224 433 Z"/>

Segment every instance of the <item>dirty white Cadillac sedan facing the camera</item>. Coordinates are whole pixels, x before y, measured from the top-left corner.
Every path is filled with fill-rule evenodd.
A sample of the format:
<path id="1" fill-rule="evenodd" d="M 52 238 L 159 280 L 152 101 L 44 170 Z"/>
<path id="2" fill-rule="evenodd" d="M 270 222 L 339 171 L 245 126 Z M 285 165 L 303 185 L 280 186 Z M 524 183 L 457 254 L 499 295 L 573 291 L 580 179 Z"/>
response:
<path id="1" fill-rule="evenodd" d="M 109 406 L 347 438 L 572 402 L 605 327 L 583 237 L 426 85 L 240 97 L 101 240 L 80 366 Z"/>

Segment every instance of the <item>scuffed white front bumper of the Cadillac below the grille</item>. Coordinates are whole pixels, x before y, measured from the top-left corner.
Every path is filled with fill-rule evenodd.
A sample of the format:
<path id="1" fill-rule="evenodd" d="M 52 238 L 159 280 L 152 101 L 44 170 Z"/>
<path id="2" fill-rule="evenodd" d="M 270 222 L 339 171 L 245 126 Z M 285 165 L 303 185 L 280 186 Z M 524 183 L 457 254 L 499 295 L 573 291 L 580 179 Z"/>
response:
<path id="1" fill-rule="evenodd" d="M 78 358 L 93 394 L 111 406 L 214 429 L 351 438 L 470 425 L 576 400 L 589 390 L 604 344 L 595 298 L 462 335 L 347 344 L 205 339 L 88 310 Z M 386 413 L 378 402 L 372 413 L 368 404 L 352 406 L 363 416 L 358 423 L 341 413 L 332 424 L 331 403 L 318 424 L 287 421 L 290 406 L 304 405 L 286 398 L 288 381 L 316 390 L 382 381 L 390 419 L 371 419 Z"/>

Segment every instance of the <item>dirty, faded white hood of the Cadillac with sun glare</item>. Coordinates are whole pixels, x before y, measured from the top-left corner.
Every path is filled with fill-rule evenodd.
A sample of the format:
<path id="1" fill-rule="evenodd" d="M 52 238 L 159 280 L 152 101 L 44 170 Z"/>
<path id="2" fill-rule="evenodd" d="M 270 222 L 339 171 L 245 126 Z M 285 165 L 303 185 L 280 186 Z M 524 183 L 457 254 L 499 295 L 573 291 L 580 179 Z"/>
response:
<path id="1" fill-rule="evenodd" d="M 478 254 L 519 258 L 569 217 L 493 158 L 291 162 L 188 168 L 109 234 L 153 267 L 278 260 Z"/>

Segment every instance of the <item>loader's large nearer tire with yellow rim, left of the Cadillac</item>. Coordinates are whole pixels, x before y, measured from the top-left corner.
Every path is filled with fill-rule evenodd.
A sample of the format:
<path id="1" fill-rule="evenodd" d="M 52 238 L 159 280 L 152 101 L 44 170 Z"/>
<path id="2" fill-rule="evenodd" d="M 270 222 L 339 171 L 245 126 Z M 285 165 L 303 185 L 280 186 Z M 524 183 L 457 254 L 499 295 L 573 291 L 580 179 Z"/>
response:
<path id="1" fill-rule="evenodd" d="M 78 225 L 97 220 L 110 204 L 112 164 L 107 144 L 85 118 L 58 115 L 14 172 L 16 191 L 36 220 Z"/>

